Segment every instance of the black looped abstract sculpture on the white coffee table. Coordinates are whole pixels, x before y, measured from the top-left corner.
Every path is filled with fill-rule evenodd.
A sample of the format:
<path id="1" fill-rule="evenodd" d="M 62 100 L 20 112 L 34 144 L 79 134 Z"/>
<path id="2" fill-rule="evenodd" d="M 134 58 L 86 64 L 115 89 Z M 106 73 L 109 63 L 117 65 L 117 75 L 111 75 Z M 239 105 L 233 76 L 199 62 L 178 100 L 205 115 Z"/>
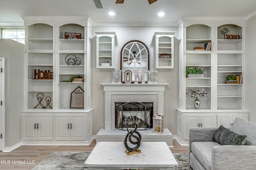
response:
<path id="1" fill-rule="evenodd" d="M 133 119 L 133 121 L 134 121 L 134 119 Z M 134 123 L 135 123 L 135 128 L 134 128 L 133 131 L 128 131 L 128 126 L 127 126 L 127 131 L 128 131 L 128 133 L 127 133 L 126 137 L 124 138 L 124 146 L 125 146 L 125 148 L 127 149 L 126 154 L 128 154 L 128 155 L 129 155 L 129 154 L 140 153 L 139 147 L 140 147 L 141 135 L 140 135 L 140 133 L 139 133 L 138 131 L 136 131 L 138 125 L 136 124 L 135 121 L 134 121 Z M 136 133 L 138 136 L 133 135 L 134 133 Z M 130 148 L 130 147 L 127 145 L 127 138 L 128 138 L 128 137 L 129 137 L 129 142 L 130 142 L 131 144 L 133 144 L 133 145 L 136 145 L 135 147 Z M 132 137 L 133 137 L 134 139 L 136 139 L 136 141 L 132 141 Z M 132 152 L 132 153 L 131 153 L 131 152 Z"/>

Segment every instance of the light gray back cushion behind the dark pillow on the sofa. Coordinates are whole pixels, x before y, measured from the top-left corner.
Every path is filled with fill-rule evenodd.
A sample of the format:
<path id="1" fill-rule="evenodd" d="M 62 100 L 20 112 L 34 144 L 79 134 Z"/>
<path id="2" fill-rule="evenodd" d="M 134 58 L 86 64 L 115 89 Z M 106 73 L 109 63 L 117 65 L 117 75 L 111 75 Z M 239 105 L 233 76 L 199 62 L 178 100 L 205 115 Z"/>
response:
<path id="1" fill-rule="evenodd" d="M 236 118 L 230 131 L 239 135 L 246 135 L 245 145 L 256 145 L 256 125 L 244 119 Z"/>

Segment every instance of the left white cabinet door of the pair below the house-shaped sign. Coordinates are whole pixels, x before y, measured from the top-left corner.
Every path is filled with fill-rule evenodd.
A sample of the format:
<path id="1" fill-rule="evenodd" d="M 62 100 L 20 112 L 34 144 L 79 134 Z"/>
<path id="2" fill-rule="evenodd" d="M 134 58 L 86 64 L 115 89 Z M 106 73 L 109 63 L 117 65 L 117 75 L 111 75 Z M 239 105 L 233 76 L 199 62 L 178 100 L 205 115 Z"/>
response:
<path id="1" fill-rule="evenodd" d="M 70 140 L 70 115 L 56 115 L 55 140 Z"/>

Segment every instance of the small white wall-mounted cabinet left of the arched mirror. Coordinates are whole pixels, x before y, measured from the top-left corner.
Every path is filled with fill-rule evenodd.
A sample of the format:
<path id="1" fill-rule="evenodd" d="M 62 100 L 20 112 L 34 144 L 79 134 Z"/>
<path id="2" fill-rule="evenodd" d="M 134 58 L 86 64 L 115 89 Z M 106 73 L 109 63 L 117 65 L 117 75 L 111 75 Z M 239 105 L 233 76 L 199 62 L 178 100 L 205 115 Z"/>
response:
<path id="1" fill-rule="evenodd" d="M 96 68 L 115 68 L 115 32 L 95 31 Z"/>

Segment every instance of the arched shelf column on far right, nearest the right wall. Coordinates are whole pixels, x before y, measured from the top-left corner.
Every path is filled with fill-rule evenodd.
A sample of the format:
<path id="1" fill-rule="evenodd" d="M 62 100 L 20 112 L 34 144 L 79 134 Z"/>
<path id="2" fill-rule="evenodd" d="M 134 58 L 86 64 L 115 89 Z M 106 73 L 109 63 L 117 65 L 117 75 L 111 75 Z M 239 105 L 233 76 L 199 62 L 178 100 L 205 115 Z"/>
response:
<path id="1" fill-rule="evenodd" d="M 228 34 L 239 35 L 240 39 L 225 39 L 220 32 L 227 28 Z M 243 75 L 245 63 L 245 42 L 243 29 L 237 25 L 221 25 L 218 27 L 217 46 L 217 109 L 244 109 L 244 85 L 225 84 L 228 74 Z M 242 77 L 244 79 L 244 77 Z"/>

